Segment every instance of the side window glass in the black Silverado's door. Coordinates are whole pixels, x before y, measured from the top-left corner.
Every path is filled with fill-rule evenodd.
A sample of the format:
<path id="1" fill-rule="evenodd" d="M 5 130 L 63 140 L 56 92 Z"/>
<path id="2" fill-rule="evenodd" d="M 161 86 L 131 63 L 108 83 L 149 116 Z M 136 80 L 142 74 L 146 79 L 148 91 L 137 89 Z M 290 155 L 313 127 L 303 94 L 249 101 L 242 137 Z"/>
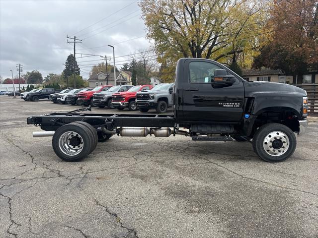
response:
<path id="1" fill-rule="evenodd" d="M 214 71 L 216 69 L 222 68 L 209 62 L 190 62 L 189 83 L 212 83 L 214 81 Z"/>

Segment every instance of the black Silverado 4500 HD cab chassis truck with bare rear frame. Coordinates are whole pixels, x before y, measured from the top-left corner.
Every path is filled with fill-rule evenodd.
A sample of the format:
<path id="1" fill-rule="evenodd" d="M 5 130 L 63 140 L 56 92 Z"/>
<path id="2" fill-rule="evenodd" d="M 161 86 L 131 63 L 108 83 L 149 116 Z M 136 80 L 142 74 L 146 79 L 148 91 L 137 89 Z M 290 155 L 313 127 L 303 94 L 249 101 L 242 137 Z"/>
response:
<path id="1" fill-rule="evenodd" d="M 296 86 L 249 82 L 224 65 L 182 58 L 176 66 L 173 115 L 90 114 L 79 109 L 27 119 L 53 136 L 62 160 L 79 161 L 112 135 L 190 136 L 195 141 L 249 141 L 264 161 L 281 162 L 308 125 L 308 98 Z M 251 142 L 252 140 L 252 142 Z M 229 144 L 230 145 L 230 144 Z"/>

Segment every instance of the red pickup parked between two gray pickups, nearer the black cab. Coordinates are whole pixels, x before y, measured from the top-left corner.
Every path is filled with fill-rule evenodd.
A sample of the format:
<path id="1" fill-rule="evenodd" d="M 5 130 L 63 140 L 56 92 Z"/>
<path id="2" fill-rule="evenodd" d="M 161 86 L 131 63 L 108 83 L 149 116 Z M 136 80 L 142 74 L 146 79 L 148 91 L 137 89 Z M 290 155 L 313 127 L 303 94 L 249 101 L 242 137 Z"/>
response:
<path id="1" fill-rule="evenodd" d="M 152 89 L 152 85 L 137 85 L 132 87 L 126 92 L 118 92 L 112 95 L 112 105 L 118 110 L 124 110 L 124 108 L 129 109 L 129 111 L 136 111 L 136 93 L 140 91 L 147 91 Z"/>

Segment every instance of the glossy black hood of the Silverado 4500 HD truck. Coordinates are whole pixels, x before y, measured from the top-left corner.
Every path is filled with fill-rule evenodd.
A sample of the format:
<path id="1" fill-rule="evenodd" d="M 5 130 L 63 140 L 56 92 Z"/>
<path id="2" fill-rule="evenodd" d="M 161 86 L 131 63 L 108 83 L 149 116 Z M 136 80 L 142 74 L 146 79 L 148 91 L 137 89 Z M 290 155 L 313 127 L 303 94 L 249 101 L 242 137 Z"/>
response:
<path id="1" fill-rule="evenodd" d="M 262 82 L 262 81 L 252 81 L 245 82 L 245 97 L 252 97 L 255 93 L 264 93 L 264 92 L 288 92 L 295 94 L 302 94 L 306 96 L 306 91 L 299 87 L 285 84 L 285 83 L 272 83 L 272 82 Z"/>

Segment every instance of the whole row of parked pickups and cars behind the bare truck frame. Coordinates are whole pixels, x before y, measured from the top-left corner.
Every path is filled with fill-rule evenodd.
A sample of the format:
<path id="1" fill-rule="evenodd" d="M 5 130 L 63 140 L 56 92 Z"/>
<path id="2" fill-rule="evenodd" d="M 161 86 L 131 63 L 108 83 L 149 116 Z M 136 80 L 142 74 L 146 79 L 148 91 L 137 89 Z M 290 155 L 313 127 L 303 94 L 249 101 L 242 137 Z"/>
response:
<path id="1" fill-rule="evenodd" d="M 165 113 L 172 106 L 173 83 L 152 85 L 105 85 L 95 88 L 64 89 L 56 91 L 53 88 L 34 89 L 21 94 L 25 101 L 38 101 L 47 98 L 53 103 L 72 105 L 91 105 L 99 108 L 128 108 L 129 111 L 148 112 L 156 109 Z"/>

